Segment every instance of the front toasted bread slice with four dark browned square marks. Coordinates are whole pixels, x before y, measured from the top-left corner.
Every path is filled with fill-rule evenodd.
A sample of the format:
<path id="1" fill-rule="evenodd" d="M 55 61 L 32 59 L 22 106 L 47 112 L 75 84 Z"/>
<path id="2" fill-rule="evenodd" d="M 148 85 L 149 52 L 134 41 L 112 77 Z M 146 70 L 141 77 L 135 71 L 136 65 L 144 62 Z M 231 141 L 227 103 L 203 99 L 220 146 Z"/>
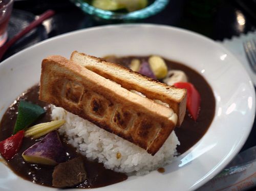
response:
<path id="1" fill-rule="evenodd" d="M 154 155 L 176 113 L 61 56 L 42 61 L 39 99 L 70 111 Z"/>

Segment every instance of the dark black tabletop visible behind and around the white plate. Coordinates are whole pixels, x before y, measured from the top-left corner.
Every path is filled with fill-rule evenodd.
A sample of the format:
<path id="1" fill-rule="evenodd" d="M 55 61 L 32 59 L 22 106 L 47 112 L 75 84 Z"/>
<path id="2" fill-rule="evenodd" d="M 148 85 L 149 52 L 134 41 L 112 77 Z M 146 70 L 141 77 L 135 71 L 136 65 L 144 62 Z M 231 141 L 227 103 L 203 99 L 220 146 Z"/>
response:
<path id="1" fill-rule="evenodd" d="M 54 16 L 13 44 L 1 61 L 57 35 L 111 24 L 95 20 L 69 0 L 15 0 L 8 26 L 9 39 L 49 9 L 55 11 Z M 253 0 L 170 0 L 158 14 L 132 22 L 182 28 L 204 35 L 218 43 L 224 43 L 256 30 L 255 10 L 256 3 Z M 251 132 L 240 152 L 256 146 L 255 137 L 254 120 Z M 256 187 L 251 188 L 251 190 L 255 189 Z"/>

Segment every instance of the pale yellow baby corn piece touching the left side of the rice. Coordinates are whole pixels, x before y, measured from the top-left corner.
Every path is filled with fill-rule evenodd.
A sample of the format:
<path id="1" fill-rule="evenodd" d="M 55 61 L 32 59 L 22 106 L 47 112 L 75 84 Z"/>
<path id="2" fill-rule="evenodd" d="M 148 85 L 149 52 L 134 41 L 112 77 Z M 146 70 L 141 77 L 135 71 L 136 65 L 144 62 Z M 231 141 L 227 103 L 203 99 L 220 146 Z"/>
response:
<path id="1" fill-rule="evenodd" d="M 65 124 L 65 122 L 65 120 L 56 120 L 52 122 L 34 125 L 25 132 L 25 136 L 31 136 L 33 138 L 44 136 L 47 133 L 58 129 L 60 126 Z"/>

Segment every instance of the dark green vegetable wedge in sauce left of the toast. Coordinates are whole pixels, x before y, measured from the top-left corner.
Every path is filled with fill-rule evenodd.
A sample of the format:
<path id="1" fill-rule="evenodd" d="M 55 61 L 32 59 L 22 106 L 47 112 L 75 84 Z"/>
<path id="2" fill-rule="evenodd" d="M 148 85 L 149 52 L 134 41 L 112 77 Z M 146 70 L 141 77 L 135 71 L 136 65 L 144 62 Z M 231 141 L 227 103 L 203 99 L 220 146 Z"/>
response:
<path id="1" fill-rule="evenodd" d="M 31 125 L 45 112 L 44 108 L 21 100 L 18 106 L 17 121 L 15 123 L 13 134 Z"/>

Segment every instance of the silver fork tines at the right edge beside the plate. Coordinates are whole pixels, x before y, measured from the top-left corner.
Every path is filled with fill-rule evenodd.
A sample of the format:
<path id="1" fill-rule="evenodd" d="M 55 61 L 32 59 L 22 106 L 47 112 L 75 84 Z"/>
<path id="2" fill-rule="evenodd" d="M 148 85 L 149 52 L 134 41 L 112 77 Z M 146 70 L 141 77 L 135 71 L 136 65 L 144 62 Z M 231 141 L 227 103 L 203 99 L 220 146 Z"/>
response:
<path id="1" fill-rule="evenodd" d="M 252 39 L 243 44 L 247 60 L 249 61 L 253 72 L 256 74 L 256 41 L 255 39 Z"/>

